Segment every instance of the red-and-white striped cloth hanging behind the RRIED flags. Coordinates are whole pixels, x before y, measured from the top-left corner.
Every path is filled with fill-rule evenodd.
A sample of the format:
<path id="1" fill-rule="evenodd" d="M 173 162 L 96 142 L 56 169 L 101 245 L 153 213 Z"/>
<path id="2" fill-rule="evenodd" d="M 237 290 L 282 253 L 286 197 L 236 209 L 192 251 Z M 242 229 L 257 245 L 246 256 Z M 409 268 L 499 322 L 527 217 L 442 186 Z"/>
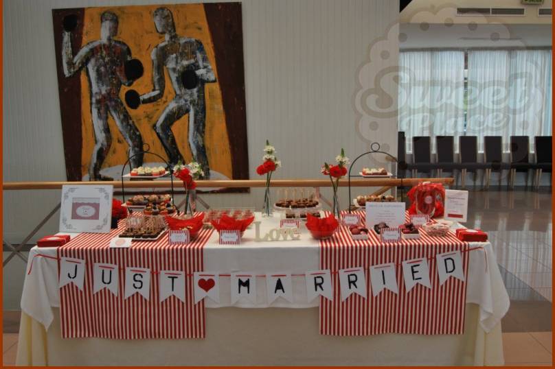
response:
<path id="1" fill-rule="evenodd" d="M 364 213 L 359 215 L 365 222 Z M 466 281 L 449 278 L 440 286 L 435 260 L 436 254 L 455 250 L 462 252 L 466 276 L 468 243 L 451 233 L 447 237 L 429 237 L 421 231 L 419 239 L 384 245 L 374 230 L 370 230 L 370 239 L 359 241 L 351 239 L 348 228 L 341 226 L 334 237 L 320 241 L 320 267 L 331 270 L 334 291 L 332 301 L 320 297 L 320 333 L 341 336 L 464 333 Z M 431 289 L 418 284 L 407 293 L 401 263 L 420 257 L 428 258 Z M 399 293 L 384 289 L 374 297 L 367 268 L 383 263 L 396 263 Z M 365 268 L 367 298 L 352 294 L 341 301 L 337 271 L 348 267 Z"/>

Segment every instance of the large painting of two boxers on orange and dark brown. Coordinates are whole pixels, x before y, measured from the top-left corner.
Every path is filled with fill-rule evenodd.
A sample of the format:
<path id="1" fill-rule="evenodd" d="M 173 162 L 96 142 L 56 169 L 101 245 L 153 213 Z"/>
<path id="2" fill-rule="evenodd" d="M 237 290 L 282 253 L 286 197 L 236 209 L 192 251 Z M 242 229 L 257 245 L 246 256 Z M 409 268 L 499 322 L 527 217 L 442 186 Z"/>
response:
<path id="1" fill-rule="evenodd" d="M 52 10 L 67 180 L 199 162 L 248 179 L 240 3 Z M 126 172 L 128 170 L 126 169 Z"/>

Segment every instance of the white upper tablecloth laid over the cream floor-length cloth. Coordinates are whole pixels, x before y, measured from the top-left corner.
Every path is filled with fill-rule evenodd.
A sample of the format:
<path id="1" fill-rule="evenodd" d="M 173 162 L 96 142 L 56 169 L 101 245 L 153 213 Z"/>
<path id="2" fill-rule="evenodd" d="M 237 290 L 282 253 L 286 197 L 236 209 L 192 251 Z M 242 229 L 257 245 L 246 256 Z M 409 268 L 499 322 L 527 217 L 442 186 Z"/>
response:
<path id="1" fill-rule="evenodd" d="M 279 226 L 279 219 L 277 217 L 271 221 L 266 219 L 262 222 L 262 225 L 262 234 L 264 234 L 269 228 Z M 319 245 L 316 240 L 310 237 L 306 229 L 302 231 L 301 239 L 297 241 L 267 241 L 256 243 L 254 241 L 254 235 L 255 230 L 254 227 L 252 227 L 245 232 L 240 246 L 220 246 L 218 245 L 217 233 L 214 233 L 203 248 L 204 270 L 207 272 L 243 271 L 260 272 L 264 274 L 267 272 L 303 273 L 308 270 L 319 269 Z M 500 321 L 508 311 L 508 294 L 503 285 L 490 243 L 472 243 L 471 246 L 482 246 L 483 250 L 473 250 L 470 252 L 466 302 L 467 304 L 477 305 L 474 319 L 476 319 L 477 330 L 483 331 L 484 337 L 487 333 L 495 333 L 496 336 L 497 333 L 499 333 L 499 342 L 497 342 L 497 345 L 493 345 L 498 346 L 496 348 L 498 353 L 493 355 L 497 357 L 497 359 L 492 359 L 492 364 L 497 363 L 499 359 L 499 350 L 501 352 L 501 358 L 499 359 L 501 363 L 497 364 L 502 364 Z M 35 257 L 37 254 L 56 257 L 56 248 L 34 247 L 30 251 L 27 270 L 29 270 L 30 264 L 32 263 L 32 272 L 25 278 L 23 296 L 21 298 L 21 309 L 32 320 L 40 322 L 45 329 L 48 329 L 55 318 L 58 319 L 56 316 L 58 310 L 55 308 L 60 307 L 58 266 L 56 260 L 45 257 Z M 220 302 L 216 303 L 207 299 L 208 308 L 231 306 L 228 283 L 229 277 L 220 277 Z M 317 307 L 318 304 L 317 299 L 312 302 L 306 300 L 304 277 L 293 277 L 292 303 L 278 298 L 271 305 L 268 305 L 264 278 L 258 278 L 256 287 L 256 303 L 252 303 L 249 300 L 239 300 L 233 306 L 242 308 L 310 308 Z M 227 311 L 229 309 L 224 310 Z M 314 309 L 310 310 L 313 311 Z M 280 309 L 270 309 L 270 311 L 280 311 Z M 315 314 L 315 320 L 317 320 L 316 311 Z M 207 315 L 208 327 L 211 325 L 211 315 L 213 314 L 208 313 Z M 249 313 L 245 312 L 245 316 L 248 315 Z M 469 317 L 467 317 L 467 319 L 468 318 Z M 293 322 L 291 324 L 293 324 Z M 56 327 L 56 329 L 59 330 L 59 326 Z M 227 327 L 223 327 L 223 329 L 227 329 Z M 212 328 L 207 329 L 208 337 L 218 334 L 211 330 Z M 476 331 L 476 329 L 474 331 Z M 467 332 L 465 331 L 465 335 L 466 334 Z M 48 333 L 48 335 L 50 334 Z M 310 332 L 310 335 L 317 335 L 317 328 L 315 328 L 315 332 Z M 420 337 L 424 341 L 432 339 L 430 336 Z M 354 339 L 354 337 L 351 338 Z M 372 337 L 372 340 L 375 339 L 376 337 Z M 98 341 L 98 339 L 89 340 Z M 329 338 L 326 340 L 329 340 Z M 476 338 L 476 340 L 479 339 Z M 67 342 L 67 340 L 65 340 L 65 342 Z M 22 350 L 23 349 L 24 348 L 22 348 Z M 25 356 L 24 353 L 21 355 L 22 357 Z M 25 361 L 24 359 L 21 360 Z M 453 361 L 451 364 L 455 364 L 456 362 L 457 361 Z"/>

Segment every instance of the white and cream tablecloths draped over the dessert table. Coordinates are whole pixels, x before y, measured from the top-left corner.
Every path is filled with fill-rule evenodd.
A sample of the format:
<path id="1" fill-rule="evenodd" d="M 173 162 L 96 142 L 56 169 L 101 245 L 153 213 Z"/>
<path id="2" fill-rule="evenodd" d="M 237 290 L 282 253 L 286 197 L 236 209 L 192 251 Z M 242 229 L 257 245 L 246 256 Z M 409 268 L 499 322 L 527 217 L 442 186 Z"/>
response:
<path id="1" fill-rule="evenodd" d="M 279 228 L 279 216 L 261 219 L 261 232 Z M 72 235 L 72 237 L 75 235 Z M 302 229 L 295 241 L 256 242 L 255 227 L 241 244 L 218 244 L 212 233 L 203 270 L 258 273 L 291 271 L 293 300 L 268 303 L 264 278 L 256 302 L 231 304 L 229 276 L 220 276 L 219 302 L 205 301 L 201 340 L 63 339 L 56 248 L 30 251 L 21 298 L 17 365 L 501 365 L 501 318 L 509 299 L 490 243 L 471 243 L 466 275 L 464 334 L 383 334 L 338 337 L 319 334 L 319 299 L 306 298 L 304 273 L 319 270 L 319 241 Z M 133 246 L 132 246 L 133 247 Z M 478 250 L 479 248 L 479 250 Z"/>

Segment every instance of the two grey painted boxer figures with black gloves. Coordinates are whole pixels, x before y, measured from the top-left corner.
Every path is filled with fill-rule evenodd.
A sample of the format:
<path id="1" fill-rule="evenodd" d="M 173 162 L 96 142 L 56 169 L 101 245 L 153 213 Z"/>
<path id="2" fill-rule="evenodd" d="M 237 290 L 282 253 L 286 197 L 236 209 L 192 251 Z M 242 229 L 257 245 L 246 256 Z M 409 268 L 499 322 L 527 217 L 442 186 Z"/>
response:
<path id="1" fill-rule="evenodd" d="M 125 94 L 128 108 L 137 109 L 161 99 L 165 91 L 164 69 L 170 78 L 174 98 L 163 109 L 152 129 L 155 130 L 171 166 L 183 160 L 172 125 L 189 115 L 188 143 L 193 160 L 201 164 L 206 178 L 210 170 L 205 136 L 205 83 L 216 82 L 214 72 L 200 40 L 179 36 L 176 33 L 172 12 L 157 8 L 153 14 L 154 25 L 163 42 L 152 49 L 152 91 L 142 95 L 135 90 Z M 66 78 L 76 78 L 84 69 L 89 81 L 91 118 L 95 146 L 89 165 L 90 180 L 112 180 L 100 174 L 102 163 L 109 153 L 112 142 L 108 115 L 114 119 L 128 147 L 131 165 L 143 164 L 143 140 L 133 123 L 126 106 L 120 99 L 120 89 L 131 86 L 143 75 L 142 63 L 133 59 L 131 49 L 122 40 L 115 40 L 118 27 L 117 16 L 104 12 L 100 17 L 100 40 L 84 45 L 75 56 L 71 47 L 71 32 L 76 28 L 76 16 L 66 16 L 63 22 L 62 62 Z"/>

